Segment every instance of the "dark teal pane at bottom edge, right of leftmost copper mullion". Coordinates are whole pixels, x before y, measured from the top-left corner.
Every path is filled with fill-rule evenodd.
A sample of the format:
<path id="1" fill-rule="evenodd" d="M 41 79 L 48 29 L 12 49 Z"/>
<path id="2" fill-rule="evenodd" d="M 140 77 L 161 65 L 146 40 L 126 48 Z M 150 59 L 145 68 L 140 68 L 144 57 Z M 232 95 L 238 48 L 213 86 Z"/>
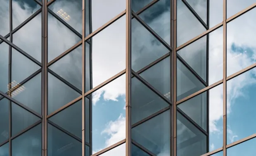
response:
<path id="1" fill-rule="evenodd" d="M 63 133 L 51 124 L 47 124 L 48 156 L 81 156 L 82 142 Z"/>

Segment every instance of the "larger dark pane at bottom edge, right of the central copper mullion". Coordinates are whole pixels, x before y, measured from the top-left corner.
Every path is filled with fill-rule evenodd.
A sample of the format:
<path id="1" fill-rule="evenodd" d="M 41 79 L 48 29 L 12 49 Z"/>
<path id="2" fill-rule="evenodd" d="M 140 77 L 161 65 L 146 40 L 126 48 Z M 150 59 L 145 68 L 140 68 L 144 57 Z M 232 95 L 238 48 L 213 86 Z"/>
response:
<path id="1" fill-rule="evenodd" d="M 157 156 L 170 155 L 170 110 L 132 128 L 132 139 Z"/>

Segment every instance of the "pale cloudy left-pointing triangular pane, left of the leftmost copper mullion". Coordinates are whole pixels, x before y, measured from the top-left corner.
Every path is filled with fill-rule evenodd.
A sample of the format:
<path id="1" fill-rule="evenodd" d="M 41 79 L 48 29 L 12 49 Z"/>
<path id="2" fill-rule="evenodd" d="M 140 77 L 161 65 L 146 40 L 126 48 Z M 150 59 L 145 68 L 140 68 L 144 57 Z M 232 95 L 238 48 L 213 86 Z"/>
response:
<path id="1" fill-rule="evenodd" d="M 20 28 L 12 36 L 12 42 L 41 62 L 42 57 L 42 15 L 41 13 Z"/>

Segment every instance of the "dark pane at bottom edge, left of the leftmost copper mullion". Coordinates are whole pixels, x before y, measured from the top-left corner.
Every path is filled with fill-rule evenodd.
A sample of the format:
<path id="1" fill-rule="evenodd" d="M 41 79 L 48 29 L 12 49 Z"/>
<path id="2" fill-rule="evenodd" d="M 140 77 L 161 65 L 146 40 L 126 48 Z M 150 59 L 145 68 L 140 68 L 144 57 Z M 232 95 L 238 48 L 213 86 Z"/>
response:
<path id="1" fill-rule="evenodd" d="M 13 156 L 41 156 L 42 125 L 32 128 L 18 138 L 12 140 Z"/>

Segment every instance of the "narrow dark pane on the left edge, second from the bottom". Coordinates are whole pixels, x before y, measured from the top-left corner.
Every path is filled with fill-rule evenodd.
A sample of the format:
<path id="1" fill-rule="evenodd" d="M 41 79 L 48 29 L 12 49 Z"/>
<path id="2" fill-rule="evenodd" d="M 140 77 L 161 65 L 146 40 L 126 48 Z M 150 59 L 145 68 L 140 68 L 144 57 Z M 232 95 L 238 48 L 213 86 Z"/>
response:
<path id="1" fill-rule="evenodd" d="M 0 125 L 1 143 L 9 138 L 9 100 L 7 99 L 0 100 Z"/>

